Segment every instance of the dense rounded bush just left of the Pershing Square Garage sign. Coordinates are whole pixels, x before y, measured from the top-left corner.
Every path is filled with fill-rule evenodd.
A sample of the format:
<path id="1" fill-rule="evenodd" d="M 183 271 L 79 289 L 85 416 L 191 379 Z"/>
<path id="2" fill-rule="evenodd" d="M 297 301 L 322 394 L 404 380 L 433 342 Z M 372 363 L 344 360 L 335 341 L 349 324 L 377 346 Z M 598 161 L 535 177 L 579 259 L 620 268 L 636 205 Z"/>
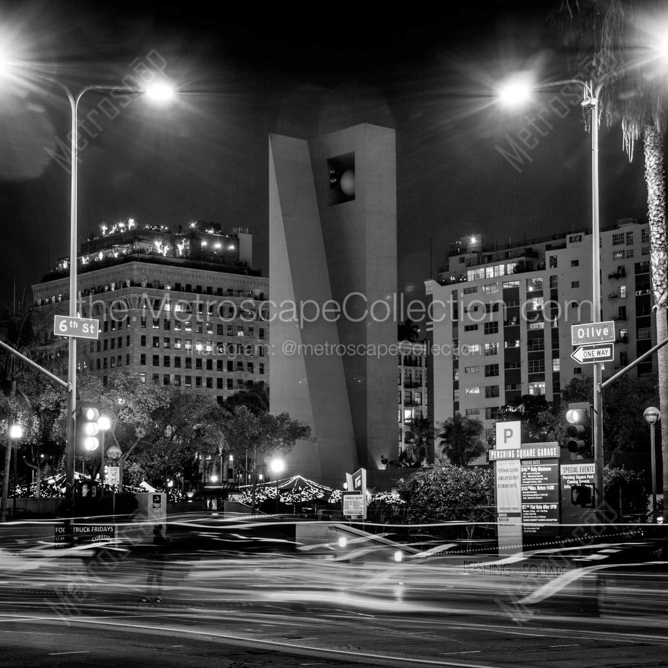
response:
<path id="1" fill-rule="evenodd" d="M 405 518 L 421 522 L 494 522 L 494 473 L 489 468 L 434 466 L 401 478 Z M 473 525 L 466 527 L 469 536 Z"/>

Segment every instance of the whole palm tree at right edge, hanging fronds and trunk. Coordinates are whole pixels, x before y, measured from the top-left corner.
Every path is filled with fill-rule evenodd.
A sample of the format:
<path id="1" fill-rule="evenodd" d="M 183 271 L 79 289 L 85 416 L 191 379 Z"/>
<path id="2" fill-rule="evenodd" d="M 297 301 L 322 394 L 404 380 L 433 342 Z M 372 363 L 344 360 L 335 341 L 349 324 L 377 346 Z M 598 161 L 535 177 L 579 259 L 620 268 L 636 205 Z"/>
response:
<path id="1" fill-rule="evenodd" d="M 574 47 L 578 61 L 587 56 L 595 64 L 598 81 L 604 77 L 599 104 L 601 118 L 610 126 L 621 116 L 623 145 L 629 160 L 639 140 L 643 140 L 647 211 L 650 232 L 650 262 L 657 341 L 668 338 L 668 244 L 666 240 L 666 200 L 663 173 L 663 136 L 668 123 L 665 79 L 651 66 L 639 61 L 635 45 L 646 41 L 642 27 L 659 21 L 659 3 L 631 0 L 562 0 L 558 14 L 562 23 L 575 29 Z M 654 12 L 653 12 L 654 10 Z M 668 347 L 658 353 L 659 407 L 668 415 Z M 668 420 L 661 420 L 663 489 L 668 489 Z M 668 495 L 663 507 L 668 512 Z"/>

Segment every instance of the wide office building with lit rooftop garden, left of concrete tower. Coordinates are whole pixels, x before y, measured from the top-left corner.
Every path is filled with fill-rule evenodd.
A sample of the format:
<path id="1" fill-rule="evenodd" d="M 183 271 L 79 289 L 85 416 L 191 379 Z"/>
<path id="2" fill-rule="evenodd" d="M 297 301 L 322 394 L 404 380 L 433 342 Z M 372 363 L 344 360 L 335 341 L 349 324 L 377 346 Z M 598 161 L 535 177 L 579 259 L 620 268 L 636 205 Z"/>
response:
<path id="1" fill-rule="evenodd" d="M 190 222 L 172 233 L 130 219 L 81 244 L 77 311 L 100 320 L 79 368 L 215 396 L 269 380 L 269 280 L 251 269 L 248 230 Z M 69 310 L 69 259 L 33 285 L 35 306 Z M 55 308 L 54 308 L 55 307 Z"/>

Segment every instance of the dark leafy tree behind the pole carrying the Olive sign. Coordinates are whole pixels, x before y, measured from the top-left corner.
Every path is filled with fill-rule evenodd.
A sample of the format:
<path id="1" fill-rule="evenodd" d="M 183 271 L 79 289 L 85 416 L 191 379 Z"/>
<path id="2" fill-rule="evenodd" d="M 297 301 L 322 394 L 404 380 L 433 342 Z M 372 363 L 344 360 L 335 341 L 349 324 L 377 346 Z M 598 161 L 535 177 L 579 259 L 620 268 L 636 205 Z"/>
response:
<path id="1" fill-rule="evenodd" d="M 590 375 L 573 378 L 562 391 L 562 413 L 568 403 L 591 401 L 592 395 Z M 656 402 L 655 376 L 626 375 L 603 390 L 603 448 L 610 466 L 624 452 L 647 448 L 648 428 L 643 411 Z"/>

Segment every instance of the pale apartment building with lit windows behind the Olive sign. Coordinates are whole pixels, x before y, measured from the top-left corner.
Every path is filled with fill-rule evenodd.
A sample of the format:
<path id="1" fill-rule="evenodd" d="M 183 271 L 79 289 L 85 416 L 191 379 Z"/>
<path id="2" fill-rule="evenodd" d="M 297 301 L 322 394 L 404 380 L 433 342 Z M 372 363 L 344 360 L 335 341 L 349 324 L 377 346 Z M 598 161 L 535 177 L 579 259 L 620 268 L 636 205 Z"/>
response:
<path id="1" fill-rule="evenodd" d="M 570 326 L 592 317 L 591 242 L 591 230 L 581 230 L 503 246 L 482 246 L 479 237 L 451 245 L 438 281 L 425 284 L 433 424 L 459 412 L 479 418 L 493 438 L 500 406 L 526 394 L 558 399 L 572 377 L 592 373 L 570 357 Z M 601 230 L 601 318 L 616 321 L 617 333 L 604 377 L 656 343 L 649 271 L 647 222 L 627 218 Z"/>

